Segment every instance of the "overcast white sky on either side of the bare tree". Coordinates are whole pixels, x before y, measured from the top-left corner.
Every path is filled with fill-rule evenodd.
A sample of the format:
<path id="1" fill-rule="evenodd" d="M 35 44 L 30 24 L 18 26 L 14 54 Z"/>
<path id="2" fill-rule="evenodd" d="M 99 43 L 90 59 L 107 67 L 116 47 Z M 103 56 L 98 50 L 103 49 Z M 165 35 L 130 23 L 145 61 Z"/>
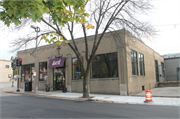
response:
<path id="1" fill-rule="evenodd" d="M 159 32 L 152 41 L 145 39 L 144 42 L 160 55 L 180 53 L 180 0 L 155 0 L 154 3 L 156 9 L 147 17 Z M 0 29 L 0 59 L 5 60 L 16 55 L 9 52 L 12 50 L 9 43 L 33 32 L 30 27 L 19 32 Z"/>

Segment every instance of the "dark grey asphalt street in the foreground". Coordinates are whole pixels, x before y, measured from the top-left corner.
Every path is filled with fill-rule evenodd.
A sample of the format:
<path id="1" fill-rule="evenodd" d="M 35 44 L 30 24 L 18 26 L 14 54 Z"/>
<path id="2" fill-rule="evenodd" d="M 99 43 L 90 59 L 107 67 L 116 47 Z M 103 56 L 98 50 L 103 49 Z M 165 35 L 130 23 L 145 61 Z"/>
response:
<path id="1" fill-rule="evenodd" d="M 5 93 L 1 89 L 1 118 L 176 118 L 178 106 L 100 103 Z"/>

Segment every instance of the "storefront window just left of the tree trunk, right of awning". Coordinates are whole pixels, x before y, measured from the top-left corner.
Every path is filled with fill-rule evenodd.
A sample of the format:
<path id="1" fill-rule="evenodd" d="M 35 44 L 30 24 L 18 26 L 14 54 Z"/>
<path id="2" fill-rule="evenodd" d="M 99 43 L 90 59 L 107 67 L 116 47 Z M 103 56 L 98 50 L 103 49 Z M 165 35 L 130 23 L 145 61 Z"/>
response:
<path id="1" fill-rule="evenodd" d="M 72 59 L 73 64 L 73 80 L 75 79 L 83 79 L 83 74 L 81 72 L 81 66 L 77 58 Z"/>

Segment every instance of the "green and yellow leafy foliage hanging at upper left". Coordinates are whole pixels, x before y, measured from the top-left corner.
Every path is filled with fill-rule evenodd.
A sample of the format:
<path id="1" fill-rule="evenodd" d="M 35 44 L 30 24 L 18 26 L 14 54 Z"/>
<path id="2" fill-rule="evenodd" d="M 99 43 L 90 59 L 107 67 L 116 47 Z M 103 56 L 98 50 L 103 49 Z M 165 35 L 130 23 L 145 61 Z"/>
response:
<path id="1" fill-rule="evenodd" d="M 10 24 L 21 25 L 23 19 L 32 19 L 33 22 L 41 22 L 43 16 L 48 14 L 53 19 L 53 24 L 64 26 L 67 22 L 86 23 L 85 17 L 89 14 L 85 12 L 87 0 L 4 0 L 0 1 L 3 11 L 0 12 L 0 20 L 8 27 Z M 45 21 L 45 20 L 44 20 Z M 55 31 L 56 32 L 56 31 Z M 52 38 L 44 39 L 48 43 L 61 45 L 61 42 L 69 43 L 60 33 L 52 33 Z M 45 34 L 48 36 L 49 34 Z M 57 40 L 56 36 L 61 36 Z"/>

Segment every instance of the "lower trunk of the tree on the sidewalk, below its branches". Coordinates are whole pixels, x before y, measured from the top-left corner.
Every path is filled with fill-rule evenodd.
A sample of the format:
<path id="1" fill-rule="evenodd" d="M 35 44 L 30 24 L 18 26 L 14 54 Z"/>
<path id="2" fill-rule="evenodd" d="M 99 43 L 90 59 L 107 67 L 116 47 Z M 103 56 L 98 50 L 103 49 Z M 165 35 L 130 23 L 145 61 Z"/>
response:
<path id="1" fill-rule="evenodd" d="M 87 70 L 84 73 L 84 78 L 83 78 L 83 98 L 89 98 L 89 74 L 90 74 L 90 67 L 87 67 Z"/>

